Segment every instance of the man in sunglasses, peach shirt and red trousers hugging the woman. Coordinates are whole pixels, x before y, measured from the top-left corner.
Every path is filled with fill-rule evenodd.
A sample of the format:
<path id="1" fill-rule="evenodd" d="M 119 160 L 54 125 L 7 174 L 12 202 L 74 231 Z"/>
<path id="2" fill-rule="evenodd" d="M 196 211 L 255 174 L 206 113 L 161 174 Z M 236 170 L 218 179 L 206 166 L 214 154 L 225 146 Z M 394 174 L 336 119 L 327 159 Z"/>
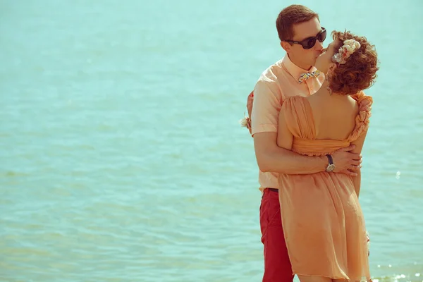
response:
<path id="1" fill-rule="evenodd" d="M 333 171 L 354 176 L 361 163 L 360 155 L 349 152 L 353 146 L 340 149 L 331 157 L 307 157 L 276 144 L 283 99 L 314 94 L 324 81 L 324 74 L 314 68 L 314 63 L 326 38 L 326 30 L 321 27 L 317 13 L 301 5 L 284 8 L 278 15 L 276 28 L 286 56 L 262 73 L 247 101 L 251 117 L 251 120 L 247 118 L 247 128 L 254 137 L 259 184 L 263 192 L 260 227 L 265 282 L 293 281 L 281 223 L 278 173 Z"/>

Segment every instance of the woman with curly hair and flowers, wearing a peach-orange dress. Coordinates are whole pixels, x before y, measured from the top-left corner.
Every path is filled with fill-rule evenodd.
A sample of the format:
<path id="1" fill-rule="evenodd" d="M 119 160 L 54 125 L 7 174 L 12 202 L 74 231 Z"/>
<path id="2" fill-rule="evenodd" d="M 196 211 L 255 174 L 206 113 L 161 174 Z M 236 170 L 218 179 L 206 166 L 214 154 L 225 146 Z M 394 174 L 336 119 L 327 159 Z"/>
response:
<path id="1" fill-rule="evenodd" d="M 364 37 L 332 32 L 333 42 L 317 58 L 325 73 L 310 97 L 283 102 L 278 146 L 328 158 L 355 144 L 361 153 L 369 127 L 372 98 L 362 90 L 376 78 L 377 56 Z M 334 164 L 336 166 L 336 164 Z M 283 230 L 293 273 L 302 282 L 369 281 L 367 235 L 356 177 L 326 171 L 279 176 Z"/>

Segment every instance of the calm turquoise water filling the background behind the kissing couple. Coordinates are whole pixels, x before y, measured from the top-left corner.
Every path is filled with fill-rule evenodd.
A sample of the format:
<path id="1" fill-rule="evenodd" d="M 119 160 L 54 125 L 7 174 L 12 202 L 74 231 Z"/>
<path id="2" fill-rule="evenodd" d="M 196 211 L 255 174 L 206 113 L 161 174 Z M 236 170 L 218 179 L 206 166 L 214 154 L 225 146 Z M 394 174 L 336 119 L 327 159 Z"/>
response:
<path id="1" fill-rule="evenodd" d="M 260 281 L 238 120 L 288 4 L 0 0 L 0 281 Z M 376 44 L 371 271 L 423 281 L 423 4 L 302 4 Z"/>

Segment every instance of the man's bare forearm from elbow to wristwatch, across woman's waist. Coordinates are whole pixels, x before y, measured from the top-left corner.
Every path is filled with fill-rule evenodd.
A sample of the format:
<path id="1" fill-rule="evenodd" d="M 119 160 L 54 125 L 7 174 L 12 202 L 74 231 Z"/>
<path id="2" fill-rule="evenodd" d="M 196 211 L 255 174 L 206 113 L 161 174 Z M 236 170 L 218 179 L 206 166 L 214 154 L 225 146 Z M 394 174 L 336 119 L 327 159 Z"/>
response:
<path id="1" fill-rule="evenodd" d="M 326 170 L 326 157 L 309 157 L 276 147 L 266 152 L 259 164 L 260 170 L 284 174 L 310 174 Z"/>

